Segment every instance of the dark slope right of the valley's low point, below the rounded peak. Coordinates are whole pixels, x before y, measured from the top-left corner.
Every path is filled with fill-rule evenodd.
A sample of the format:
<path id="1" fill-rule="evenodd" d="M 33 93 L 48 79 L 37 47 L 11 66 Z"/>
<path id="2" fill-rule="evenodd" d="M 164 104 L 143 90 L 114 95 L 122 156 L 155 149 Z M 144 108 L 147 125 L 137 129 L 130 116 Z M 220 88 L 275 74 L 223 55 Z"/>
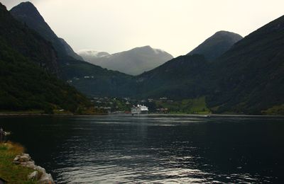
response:
<path id="1" fill-rule="evenodd" d="M 197 98 L 209 93 L 206 85 L 209 81 L 204 79 L 207 66 L 208 62 L 203 55 L 177 57 L 137 76 L 136 93 L 151 98 Z"/>

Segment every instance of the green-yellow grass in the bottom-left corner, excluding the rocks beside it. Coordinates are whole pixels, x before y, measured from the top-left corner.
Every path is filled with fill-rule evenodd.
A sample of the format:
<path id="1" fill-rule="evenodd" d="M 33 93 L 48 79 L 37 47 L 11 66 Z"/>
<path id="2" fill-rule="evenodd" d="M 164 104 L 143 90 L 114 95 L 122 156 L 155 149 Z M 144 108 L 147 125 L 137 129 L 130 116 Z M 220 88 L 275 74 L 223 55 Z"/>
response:
<path id="1" fill-rule="evenodd" d="M 36 183 L 36 181 L 28 180 L 28 175 L 34 171 L 33 169 L 13 163 L 13 159 L 23 152 L 23 146 L 20 144 L 0 143 L 0 178 L 8 183 Z"/>

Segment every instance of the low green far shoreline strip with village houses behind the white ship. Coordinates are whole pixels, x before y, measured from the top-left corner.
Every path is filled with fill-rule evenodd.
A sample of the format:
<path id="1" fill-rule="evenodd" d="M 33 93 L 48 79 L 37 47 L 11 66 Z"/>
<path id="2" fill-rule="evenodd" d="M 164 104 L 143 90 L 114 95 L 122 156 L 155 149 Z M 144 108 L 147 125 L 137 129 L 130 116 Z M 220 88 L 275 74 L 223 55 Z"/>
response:
<path id="1" fill-rule="evenodd" d="M 96 98 L 97 99 L 97 98 Z M 0 116 L 33 116 L 33 115 L 109 115 L 129 113 L 131 107 L 136 104 L 144 104 L 148 107 L 150 114 L 170 114 L 170 115 L 284 115 L 284 105 L 276 105 L 268 110 L 261 110 L 261 113 L 237 113 L 226 111 L 216 113 L 214 109 L 209 108 L 205 97 L 183 100 L 133 100 L 124 98 L 99 98 L 90 100 L 88 108 L 81 107 L 75 111 L 61 108 L 50 108 L 49 110 L 0 110 Z"/>

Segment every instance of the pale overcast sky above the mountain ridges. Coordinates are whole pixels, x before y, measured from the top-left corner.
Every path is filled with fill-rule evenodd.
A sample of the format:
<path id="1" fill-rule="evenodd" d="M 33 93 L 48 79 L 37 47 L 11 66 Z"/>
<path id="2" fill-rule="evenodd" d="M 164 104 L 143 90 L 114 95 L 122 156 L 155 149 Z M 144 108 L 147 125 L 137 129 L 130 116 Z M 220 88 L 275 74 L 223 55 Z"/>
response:
<path id="1" fill-rule="evenodd" d="M 20 0 L 0 0 L 8 9 Z M 284 15 L 283 0 L 31 0 L 73 50 L 150 45 L 184 55 L 219 30 L 246 36 Z"/>

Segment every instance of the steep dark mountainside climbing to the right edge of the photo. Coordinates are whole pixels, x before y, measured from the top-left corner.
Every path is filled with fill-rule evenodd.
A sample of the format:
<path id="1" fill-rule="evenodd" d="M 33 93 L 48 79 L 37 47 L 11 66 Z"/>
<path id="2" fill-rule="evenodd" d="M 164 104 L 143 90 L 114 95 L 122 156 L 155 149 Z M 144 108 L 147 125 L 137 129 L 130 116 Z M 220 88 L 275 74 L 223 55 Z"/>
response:
<path id="1" fill-rule="evenodd" d="M 246 36 L 215 61 L 212 69 L 219 85 L 208 98 L 209 105 L 218 113 L 256 114 L 284 104 L 283 51 L 284 16 Z"/>

